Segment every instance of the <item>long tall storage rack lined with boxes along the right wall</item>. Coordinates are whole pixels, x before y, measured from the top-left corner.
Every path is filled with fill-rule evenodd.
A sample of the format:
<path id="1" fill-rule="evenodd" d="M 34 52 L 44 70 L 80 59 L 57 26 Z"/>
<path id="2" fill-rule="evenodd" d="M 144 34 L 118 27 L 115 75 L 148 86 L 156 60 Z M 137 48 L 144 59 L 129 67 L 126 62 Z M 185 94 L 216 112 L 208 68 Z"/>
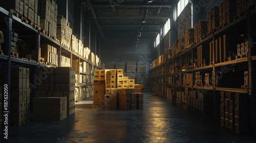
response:
<path id="1" fill-rule="evenodd" d="M 255 46 L 255 25 L 256 25 L 256 9 L 249 9 L 247 13 L 241 15 L 240 17 L 235 17 L 234 21 L 230 22 L 227 26 L 219 29 L 218 31 L 208 35 L 201 41 L 194 43 L 191 47 L 188 47 L 185 51 L 168 59 L 164 64 L 156 66 L 150 70 L 150 84 L 152 90 L 158 93 L 161 97 L 166 97 L 166 90 L 159 92 L 159 80 L 166 80 L 165 87 L 170 88 L 172 93 L 177 97 L 176 92 L 184 92 L 186 89 L 197 90 L 205 93 L 212 93 L 214 95 L 214 115 L 219 117 L 220 115 L 220 92 L 232 92 L 239 94 L 249 94 L 249 111 L 250 111 L 250 131 L 255 132 L 255 63 L 256 63 L 256 53 L 254 50 Z M 254 35 L 253 35 L 254 33 Z M 215 60 L 215 41 L 225 34 L 244 34 L 243 38 L 245 42 L 248 39 L 248 54 L 245 57 L 236 57 L 236 55 L 231 55 L 225 61 Z M 236 43 L 234 39 L 232 42 Z M 202 46 L 202 47 L 201 47 Z M 210 46 L 212 48 L 212 54 L 210 54 Z M 194 64 L 195 59 L 197 59 L 198 48 L 202 48 L 202 56 L 208 57 L 209 62 L 205 62 L 203 65 Z M 237 47 L 232 47 L 234 50 Z M 217 53 L 219 54 L 219 53 Z M 206 61 L 207 61 L 206 60 Z M 183 67 L 183 64 L 187 63 L 187 68 Z M 189 63 L 189 64 L 188 64 Z M 161 77 L 159 75 L 159 69 L 166 67 L 166 77 Z M 238 71 L 238 72 L 237 72 Z M 242 88 L 244 80 L 244 71 L 248 71 L 248 86 L 247 88 Z M 236 73 L 237 72 L 237 73 Z M 183 84 L 183 77 L 190 74 L 191 84 Z M 209 74 L 210 82 L 205 85 L 204 83 L 196 83 L 196 78 L 199 75 Z M 217 79 L 217 77 L 219 79 Z M 221 80 L 223 79 L 223 80 Z M 204 79 L 201 79 L 204 80 Z M 219 82 L 219 83 L 218 83 Z M 170 98 L 168 98 L 170 99 Z M 176 100 L 176 99 L 175 99 Z M 185 103 L 186 104 L 186 103 Z"/>

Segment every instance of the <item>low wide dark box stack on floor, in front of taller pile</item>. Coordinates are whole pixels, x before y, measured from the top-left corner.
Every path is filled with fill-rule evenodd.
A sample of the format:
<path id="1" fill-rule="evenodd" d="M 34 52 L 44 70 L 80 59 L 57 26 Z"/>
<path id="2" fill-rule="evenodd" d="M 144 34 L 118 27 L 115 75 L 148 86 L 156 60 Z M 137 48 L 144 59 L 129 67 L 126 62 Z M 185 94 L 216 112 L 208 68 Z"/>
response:
<path id="1" fill-rule="evenodd" d="M 67 117 L 67 97 L 33 98 L 33 121 L 61 121 Z"/>

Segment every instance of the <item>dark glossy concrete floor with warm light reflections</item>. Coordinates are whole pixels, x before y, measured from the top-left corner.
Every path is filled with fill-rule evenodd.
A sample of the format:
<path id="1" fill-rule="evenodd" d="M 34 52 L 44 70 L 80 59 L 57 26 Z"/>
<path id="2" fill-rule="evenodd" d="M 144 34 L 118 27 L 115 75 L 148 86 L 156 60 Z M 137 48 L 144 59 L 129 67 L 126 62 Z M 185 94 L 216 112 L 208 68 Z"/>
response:
<path id="1" fill-rule="evenodd" d="M 65 120 L 11 126 L 4 142 L 256 142 L 251 135 L 221 128 L 212 114 L 152 93 L 144 94 L 144 110 L 96 111 L 90 101 L 78 103 Z"/>

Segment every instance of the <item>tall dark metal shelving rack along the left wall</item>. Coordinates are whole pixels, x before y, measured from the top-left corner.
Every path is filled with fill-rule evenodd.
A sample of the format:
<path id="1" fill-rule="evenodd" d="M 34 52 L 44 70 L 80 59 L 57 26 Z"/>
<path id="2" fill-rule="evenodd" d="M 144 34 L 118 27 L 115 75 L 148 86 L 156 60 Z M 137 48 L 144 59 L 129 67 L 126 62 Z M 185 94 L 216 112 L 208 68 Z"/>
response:
<path id="1" fill-rule="evenodd" d="M 40 44 L 49 44 L 57 48 L 57 55 L 58 55 L 58 66 L 61 64 L 61 55 L 68 56 L 71 59 L 71 66 L 72 66 L 72 59 L 79 59 L 79 61 L 87 62 L 90 66 L 90 73 L 79 73 L 79 74 L 86 74 L 90 76 L 90 82 L 87 84 L 77 85 L 77 87 L 86 87 L 90 86 L 90 89 L 93 90 L 93 75 L 94 75 L 94 69 L 99 69 L 99 66 L 96 66 L 91 61 L 84 59 L 82 56 L 77 55 L 73 53 L 71 50 L 69 50 L 67 47 L 62 45 L 61 43 L 57 42 L 56 40 L 50 38 L 48 35 L 40 32 L 40 30 L 35 29 L 34 27 L 30 26 L 28 23 L 23 22 L 20 18 L 14 16 L 10 11 L 6 11 L 2 7 L 0 7 L 0 26 L 1 29 L 6 29 L 6 35 L 4 35 L 5 38 L 5 46 L 2 46 L 2 49 L 4 51 L 4 55 L 0 54 L 0 62 L 1 66 L 5 67 L 5 84 L 8 84 L 9 90 L 8 90 L 8 96 L 10 95 L 10 73 L 11 73 L 11 66 L 26 66 L 29 67 L 31 70 L 31 78 L 33 79 L 30 81 L 30 88 L 33 88 L 32 91 L 35 93 L 37 83 L 34 83 L 34 81 L 37 81 L 37 67 L 48 67 L 49 65 L 40 64 L 38 60 L 38 52 Z M 23 60 L 19 58 L 11 57 L 11 32 L 12 29 L 15 30 L 15 33 L 18 34 L 18 38 L 22 39 L 24 41 L 28 41 L 36 51 L 36 62 L 34 61 L 28 61 Z M 91 93 L 93 91 L 90 91 Z M 90 95 L 92 96 L 92 94 Z M 8 100 L 10 99 L 10 96 L 8 97 Z M 9 110 L 9 109 L 8 109 Z"/>

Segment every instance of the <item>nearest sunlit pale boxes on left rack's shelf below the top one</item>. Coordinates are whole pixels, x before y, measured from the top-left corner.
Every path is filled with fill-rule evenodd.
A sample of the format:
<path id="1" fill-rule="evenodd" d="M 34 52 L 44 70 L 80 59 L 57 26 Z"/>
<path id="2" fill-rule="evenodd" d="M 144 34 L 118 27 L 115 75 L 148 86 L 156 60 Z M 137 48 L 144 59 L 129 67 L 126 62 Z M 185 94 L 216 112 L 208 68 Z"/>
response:
<path id="1" fill-rule="evenodd" d="M 41 58 L 45 59 L 47 65 L 58 66 L 57 49 L 49 44 L 41 44 Z"/>

